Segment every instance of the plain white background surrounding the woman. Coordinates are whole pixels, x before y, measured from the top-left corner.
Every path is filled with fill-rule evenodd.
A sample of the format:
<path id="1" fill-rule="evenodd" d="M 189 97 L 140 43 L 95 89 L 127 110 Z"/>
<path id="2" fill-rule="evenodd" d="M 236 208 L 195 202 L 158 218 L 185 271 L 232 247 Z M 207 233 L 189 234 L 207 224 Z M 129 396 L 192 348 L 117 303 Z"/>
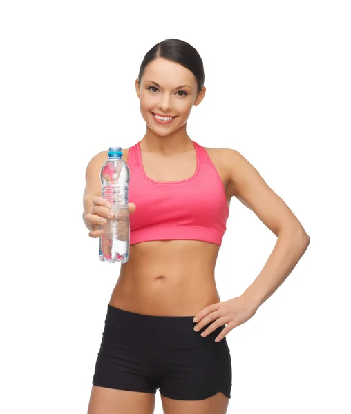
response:
<path id="1" fill-rule="evenodd" d="M 85 169 L 142 138 L 134 81 L 170 37 L 205 64 L 190 137 L 241 152 L 311 239 L 281 288 L 227 335 L 228 413 L 351 412 L 347 6 L 1 3 L 1 413 L 86 413 L 120 266 L 99 262 L 82 221 Z M 216 267 L 222 300 L 243 293 L 275 242 L 233 199 Z"/>

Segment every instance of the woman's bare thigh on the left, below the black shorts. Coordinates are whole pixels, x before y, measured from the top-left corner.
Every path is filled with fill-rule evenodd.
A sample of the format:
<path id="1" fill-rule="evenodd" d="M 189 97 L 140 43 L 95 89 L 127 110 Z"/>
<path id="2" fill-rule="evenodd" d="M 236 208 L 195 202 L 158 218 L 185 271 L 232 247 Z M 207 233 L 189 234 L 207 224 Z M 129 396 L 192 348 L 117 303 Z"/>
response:
<path id="1" fill-rule="evenodd" d="M 88 414 L 152 414 L 154 408 L 154 394 L 93 385 Z"/>

